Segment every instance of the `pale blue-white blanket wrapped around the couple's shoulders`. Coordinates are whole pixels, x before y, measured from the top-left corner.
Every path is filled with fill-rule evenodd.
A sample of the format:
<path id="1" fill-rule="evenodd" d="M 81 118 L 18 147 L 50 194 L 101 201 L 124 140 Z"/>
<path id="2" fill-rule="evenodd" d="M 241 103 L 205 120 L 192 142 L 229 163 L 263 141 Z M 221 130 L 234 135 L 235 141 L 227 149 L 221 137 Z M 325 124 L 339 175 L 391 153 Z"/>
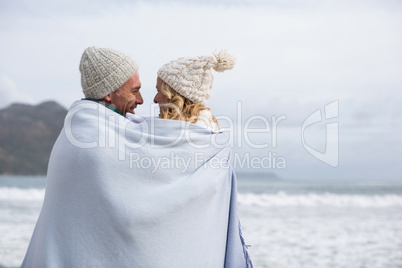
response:
<path id="1" fill-rule="evenodd" d="M 91 101 L 67 114 L 22 267 L 252 267 L 224 133 Z"/>

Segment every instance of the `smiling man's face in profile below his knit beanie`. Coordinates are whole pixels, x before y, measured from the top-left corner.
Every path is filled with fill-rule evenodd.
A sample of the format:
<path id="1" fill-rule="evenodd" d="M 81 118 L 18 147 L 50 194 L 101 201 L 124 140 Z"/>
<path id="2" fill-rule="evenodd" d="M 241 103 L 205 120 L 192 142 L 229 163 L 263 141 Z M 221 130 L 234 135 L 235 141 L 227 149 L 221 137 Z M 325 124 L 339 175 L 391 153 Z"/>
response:
<path id="1" fill-rule="evenodd" d="M 123 116 L 126 113 L 134 113 L 137 105 L 141 105 L 144 101 L 140 93 L 141 81 L 138 71 L 128 79 L 124 85 L 105 97 L 114 107 L 116 107 Z"/>

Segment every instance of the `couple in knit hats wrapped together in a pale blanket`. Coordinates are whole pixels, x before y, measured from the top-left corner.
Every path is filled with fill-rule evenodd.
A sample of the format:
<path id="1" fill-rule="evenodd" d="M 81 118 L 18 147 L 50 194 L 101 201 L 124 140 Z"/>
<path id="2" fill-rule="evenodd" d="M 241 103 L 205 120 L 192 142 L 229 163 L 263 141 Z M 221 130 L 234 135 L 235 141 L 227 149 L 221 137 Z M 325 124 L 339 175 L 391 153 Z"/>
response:
<path id="1" fill-rule="evenodd" d="M 137 63 L 90 47 L 85 99 L 69 109 L 22 267 L 252 267 L 237 216 L 228 133 L 205 106 L 226 51 L 158 71 L 159 118 L 142 104 Z M 168 120 L 167 120 L 168 119 Z"/>

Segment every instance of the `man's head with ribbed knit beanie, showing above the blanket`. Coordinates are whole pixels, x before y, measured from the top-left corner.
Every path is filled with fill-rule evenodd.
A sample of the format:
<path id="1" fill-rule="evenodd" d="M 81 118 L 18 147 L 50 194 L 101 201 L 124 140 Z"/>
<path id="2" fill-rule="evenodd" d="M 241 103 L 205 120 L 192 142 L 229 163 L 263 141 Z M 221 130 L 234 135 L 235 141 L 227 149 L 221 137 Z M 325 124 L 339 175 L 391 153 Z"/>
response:
<path id="1" fill-rule="evenodd" d="M 89 47 L 81 58 L 81 85 L 86 100 L 125 116 L 143 103 L 138 64 L 118 51 Z"/>

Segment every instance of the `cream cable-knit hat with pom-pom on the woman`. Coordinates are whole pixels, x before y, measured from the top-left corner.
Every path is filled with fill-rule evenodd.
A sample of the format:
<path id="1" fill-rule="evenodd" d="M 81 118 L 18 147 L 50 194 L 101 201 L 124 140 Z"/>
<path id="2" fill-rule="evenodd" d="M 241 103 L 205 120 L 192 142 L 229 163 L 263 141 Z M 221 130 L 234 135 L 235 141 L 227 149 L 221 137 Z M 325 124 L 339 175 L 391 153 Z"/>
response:
<path id="1" fill-rule="evenodd" d="M 206 105 L 214 80 L 211 68 L 223 72 L 232 69 L 235 63 L 236 57 L 222 50 L 210 56 L 184 57 L 170 61 L 159 69 L 158 76 L 193 103 Z"/>

